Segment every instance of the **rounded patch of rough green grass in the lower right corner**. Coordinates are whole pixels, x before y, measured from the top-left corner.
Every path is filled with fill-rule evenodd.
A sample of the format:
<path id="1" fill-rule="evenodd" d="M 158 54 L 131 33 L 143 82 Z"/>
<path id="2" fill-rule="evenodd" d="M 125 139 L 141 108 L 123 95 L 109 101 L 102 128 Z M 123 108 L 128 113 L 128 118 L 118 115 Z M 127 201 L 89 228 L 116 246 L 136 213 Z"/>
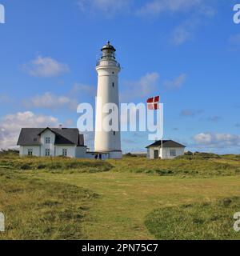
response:
<path id="1" fill-rule="evenodd" d="M 233 228 L 239 209 L 238 197 L 166 207 L 148 214 L 145 224 L 161 240 L 240 239 Z"/>

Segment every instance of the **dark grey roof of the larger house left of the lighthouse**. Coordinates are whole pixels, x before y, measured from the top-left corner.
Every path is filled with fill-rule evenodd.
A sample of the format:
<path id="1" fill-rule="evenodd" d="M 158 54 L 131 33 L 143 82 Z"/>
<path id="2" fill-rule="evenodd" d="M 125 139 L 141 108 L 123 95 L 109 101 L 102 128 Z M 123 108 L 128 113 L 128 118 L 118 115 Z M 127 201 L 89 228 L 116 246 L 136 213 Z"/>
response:
<path id="1" fill-rule="evenodd" d="M 19 146 L 41 145 L 42 132 L 51 130 L 55 135 L 55 145 L 84 146 L 84 137 L 77 128 L 22 128 L 18 138 Z"/>

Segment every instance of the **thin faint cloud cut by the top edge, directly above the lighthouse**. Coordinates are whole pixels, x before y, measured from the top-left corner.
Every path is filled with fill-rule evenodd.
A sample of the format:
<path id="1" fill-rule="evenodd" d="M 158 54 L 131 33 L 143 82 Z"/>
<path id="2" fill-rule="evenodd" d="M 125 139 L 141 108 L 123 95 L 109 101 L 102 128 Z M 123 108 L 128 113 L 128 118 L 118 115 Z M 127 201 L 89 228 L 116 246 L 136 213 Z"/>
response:
<path id="1" fill-rule="evenodd" d="M 78 6 L 83 12 L 100 11 L 107 15 L 116 14 L 125 10 L 131 0 L 78 0 Z"/>

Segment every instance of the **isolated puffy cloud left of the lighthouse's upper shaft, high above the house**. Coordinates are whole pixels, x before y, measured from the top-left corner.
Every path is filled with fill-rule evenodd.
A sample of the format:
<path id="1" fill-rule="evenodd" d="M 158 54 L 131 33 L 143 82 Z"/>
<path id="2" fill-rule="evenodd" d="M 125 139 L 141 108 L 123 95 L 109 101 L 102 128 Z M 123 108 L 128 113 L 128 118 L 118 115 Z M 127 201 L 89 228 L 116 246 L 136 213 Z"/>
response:
<path id="1" fill-rule="evenodd" d="M 50 57 L 38 56 L 33 61 L 24 64 L 23 70 L 28 74 L 36 77 L 55 77 L 60 74 L 69 72 L 69 66 L 58 62 Z"/>

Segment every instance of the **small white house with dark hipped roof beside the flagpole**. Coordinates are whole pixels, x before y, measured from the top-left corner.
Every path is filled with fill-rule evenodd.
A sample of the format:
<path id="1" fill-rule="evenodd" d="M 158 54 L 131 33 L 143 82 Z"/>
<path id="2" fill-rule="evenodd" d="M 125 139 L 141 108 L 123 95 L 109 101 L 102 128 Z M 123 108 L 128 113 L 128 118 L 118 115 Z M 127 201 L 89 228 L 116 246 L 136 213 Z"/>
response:
<path id="1" fill-rule="evenodd" d="M 154 142 L 147 146 L 147 158 L 149 159 L 173 159 L 184 154 L 186 146 L 171 140 Z"/>

